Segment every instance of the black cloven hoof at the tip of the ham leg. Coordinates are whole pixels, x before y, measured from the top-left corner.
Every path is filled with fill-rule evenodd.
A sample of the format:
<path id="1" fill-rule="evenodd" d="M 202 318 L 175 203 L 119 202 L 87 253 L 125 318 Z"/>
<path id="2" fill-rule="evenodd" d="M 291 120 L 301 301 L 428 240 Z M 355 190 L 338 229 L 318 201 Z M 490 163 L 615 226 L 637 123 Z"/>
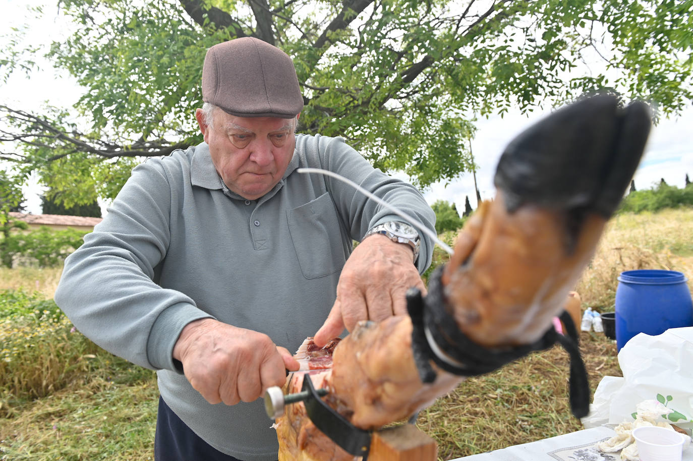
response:
<path id="1" fill-rule="evenodd" d="M 495 186 L 509 211 L 533 203 L 608 218 L 638 168 L 650 126 L 645 103 L 619 107 L 615 96 L 585 98 L 511 141 Z"/>

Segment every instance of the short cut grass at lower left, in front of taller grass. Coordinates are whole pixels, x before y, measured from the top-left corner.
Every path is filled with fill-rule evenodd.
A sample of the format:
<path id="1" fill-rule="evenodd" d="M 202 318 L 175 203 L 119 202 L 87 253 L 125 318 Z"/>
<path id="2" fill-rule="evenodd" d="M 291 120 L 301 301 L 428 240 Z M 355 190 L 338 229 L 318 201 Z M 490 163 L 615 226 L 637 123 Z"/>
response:
<path id="1" fill-rule="evenodd" d="M 0 459 L 152 460 L 157 399 L 152 374 L 127 384 L 82 380 L 0 420 Z"/>

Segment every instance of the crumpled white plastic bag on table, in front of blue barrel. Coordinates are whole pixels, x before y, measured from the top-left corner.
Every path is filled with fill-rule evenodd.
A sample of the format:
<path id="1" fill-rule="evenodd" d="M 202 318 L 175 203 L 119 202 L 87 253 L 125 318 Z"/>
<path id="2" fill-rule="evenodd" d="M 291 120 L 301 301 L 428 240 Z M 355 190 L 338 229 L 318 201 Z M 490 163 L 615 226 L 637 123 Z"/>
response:
<path id="1" fill-rule="evenodd" d="M 618 354 L 623 378 L 604 376 L 597 386 L 586 428 L 633 421 L 638 403 L 657 400 L 672 410 L 665 419 L 693 429 L 693 327 L 658 336 L 639 333 Z"/>

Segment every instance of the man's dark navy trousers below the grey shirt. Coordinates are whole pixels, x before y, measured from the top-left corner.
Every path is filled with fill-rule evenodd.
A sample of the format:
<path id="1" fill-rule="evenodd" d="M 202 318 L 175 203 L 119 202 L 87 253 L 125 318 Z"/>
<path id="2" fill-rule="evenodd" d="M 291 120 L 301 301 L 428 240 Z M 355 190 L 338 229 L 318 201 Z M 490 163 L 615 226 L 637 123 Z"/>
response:
<path id="1" fill-rule="evenodd" d="M 204 442 L 159 397 L 155 461 L 242 461 Z"/>

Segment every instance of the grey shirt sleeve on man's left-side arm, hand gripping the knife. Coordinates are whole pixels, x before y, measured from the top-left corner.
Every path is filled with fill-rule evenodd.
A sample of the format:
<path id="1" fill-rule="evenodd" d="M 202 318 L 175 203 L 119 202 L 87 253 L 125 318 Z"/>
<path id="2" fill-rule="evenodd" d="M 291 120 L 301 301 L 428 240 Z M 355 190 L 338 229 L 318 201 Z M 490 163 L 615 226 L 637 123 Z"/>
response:
<path id="1" fill-rule="evenodd" d="M 160 162 L 134 168 L 107 216 L 66 259 L 55 302 L 112 354 L 182 372 L 172 356 L 180 331 L 211 316 L 184 293 L 155 283 L 170 240 L 171 197 Z"/>

